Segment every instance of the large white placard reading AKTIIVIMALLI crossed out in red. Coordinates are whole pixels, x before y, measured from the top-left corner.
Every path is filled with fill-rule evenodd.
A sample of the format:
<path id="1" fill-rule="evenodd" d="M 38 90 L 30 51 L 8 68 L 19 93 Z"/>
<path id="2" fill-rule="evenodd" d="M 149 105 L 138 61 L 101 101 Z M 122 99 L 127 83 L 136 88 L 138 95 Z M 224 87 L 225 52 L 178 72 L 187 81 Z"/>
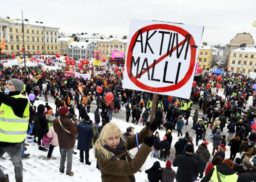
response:
<path id="1" fill-rule="evenodd" d="M 202 33 L 203 26 L 131 20 L 123 88 L 189 98 Z"/>

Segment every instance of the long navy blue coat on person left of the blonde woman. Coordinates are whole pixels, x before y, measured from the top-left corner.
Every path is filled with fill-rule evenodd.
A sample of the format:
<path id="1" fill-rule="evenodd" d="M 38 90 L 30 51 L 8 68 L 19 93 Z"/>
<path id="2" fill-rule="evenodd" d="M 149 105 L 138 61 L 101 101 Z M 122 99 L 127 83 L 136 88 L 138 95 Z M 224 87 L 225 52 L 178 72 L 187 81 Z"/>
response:
<path id="1" fill-rule="evenodd" d="M 79 123 L 77 125 L 78 133 L 78 150 L 88 150 L 91 146 L 91 139 L 93 138 L 93 128 L 89 125 L 87 121 Z"/>

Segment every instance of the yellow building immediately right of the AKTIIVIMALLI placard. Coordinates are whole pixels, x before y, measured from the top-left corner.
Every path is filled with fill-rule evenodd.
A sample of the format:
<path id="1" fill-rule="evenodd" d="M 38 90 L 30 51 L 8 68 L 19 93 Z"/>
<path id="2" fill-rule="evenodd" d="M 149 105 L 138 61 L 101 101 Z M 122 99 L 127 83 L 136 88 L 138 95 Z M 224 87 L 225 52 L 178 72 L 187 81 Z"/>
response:
<path id="1" fill-rule="evenodd" d="M 217 61 L 218 49 L 201 44 L 198 54 L 199 67 L 208 70 L 213 67 Z"/>

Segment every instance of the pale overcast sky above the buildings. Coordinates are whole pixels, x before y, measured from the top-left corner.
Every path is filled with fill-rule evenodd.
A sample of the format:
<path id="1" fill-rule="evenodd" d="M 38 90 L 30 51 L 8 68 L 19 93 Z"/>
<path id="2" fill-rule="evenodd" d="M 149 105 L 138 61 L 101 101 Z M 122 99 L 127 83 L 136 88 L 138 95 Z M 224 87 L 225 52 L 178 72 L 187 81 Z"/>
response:
<path id="1" fill-rule="evenodd" d="M 38 3 L 37 3 L 38 2 Z M 228 44 L 237 33 L 256 40 L 255 0 L 44 0 L 0 2 L 0 16 L 43 21 L 66 34 L 128 35 L 129 20 L 159 20 L 202 25 L 202 42 Z"/>

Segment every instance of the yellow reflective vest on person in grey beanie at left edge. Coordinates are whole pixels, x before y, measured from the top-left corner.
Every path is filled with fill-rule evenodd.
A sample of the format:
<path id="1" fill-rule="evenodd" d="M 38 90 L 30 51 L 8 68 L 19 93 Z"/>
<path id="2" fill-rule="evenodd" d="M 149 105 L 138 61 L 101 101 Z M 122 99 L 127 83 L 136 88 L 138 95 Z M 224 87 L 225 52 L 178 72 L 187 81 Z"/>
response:
<path id="1" fill-rule="evenodd" d="M 26 98 L 22 94 L 12 96 L 14 98 Z M 0 141 L 8 143 L 20 143 L 26 138 L 29 122 L 29 102 L 23 113 L 23 117 L 14 114 L 13 109 L 4 103 L 0 106 Z"/>

